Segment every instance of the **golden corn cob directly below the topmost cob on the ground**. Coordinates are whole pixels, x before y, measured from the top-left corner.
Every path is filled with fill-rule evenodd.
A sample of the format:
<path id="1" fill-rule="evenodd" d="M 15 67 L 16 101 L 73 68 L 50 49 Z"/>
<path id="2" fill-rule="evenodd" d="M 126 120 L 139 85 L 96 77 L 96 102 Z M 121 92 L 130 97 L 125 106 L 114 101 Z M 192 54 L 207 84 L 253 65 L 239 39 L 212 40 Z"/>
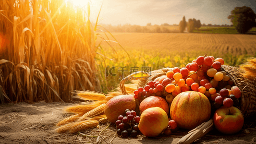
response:
<path id="1" fill-rule="evenodd" d="M 93 104 L 93 105 L 77 105 L 77 106 L 70 106 L 65 109 L 68 112 L 88 112 L 94 108 L 97 108 L 100 104 Z"/>

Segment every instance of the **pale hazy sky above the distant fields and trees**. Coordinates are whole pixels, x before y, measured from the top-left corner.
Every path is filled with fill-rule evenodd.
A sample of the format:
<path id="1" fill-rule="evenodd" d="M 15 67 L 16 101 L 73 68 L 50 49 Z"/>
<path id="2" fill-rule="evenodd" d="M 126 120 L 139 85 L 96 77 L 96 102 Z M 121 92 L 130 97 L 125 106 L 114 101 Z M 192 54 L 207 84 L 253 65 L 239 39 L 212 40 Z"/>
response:
<path id="1" fill-rule="evenodd" d="M 235 7 L 256 12 L 256 0 L 90 0 L 92 22 L 99 14 L 101 24 L 179 24 L 183 16 L 201 24 L 232 24 L 228 16 Z"/>

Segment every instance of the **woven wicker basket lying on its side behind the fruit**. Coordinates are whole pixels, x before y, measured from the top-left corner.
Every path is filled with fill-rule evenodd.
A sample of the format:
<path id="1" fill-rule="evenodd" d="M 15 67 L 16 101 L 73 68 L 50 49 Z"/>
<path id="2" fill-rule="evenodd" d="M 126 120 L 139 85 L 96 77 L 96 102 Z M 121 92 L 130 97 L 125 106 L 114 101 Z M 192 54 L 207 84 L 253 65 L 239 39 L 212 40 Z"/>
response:
<path id="1" fill-rule="evenodd" d="M 251 81 L 243 76 L 243 71 L 239 68 L 228 66 L 228 65 L 222 65 L 223 71 L 225 71 L 234 84 L 239 87 L 241 90 L 241 97 L 240 97 L 240 104 L 239 108 L 244 114 L 244 118 L 248 117 L 255 117 L 256 116 L 256 81 Z M 138 87 L 144 87 L 147 82 L 150 80 L 154 80 L 157 77 L 161 75 L 165 75 L 167 71 L 172 70 L 172 68 L 163 68 L 159 70 L 152 71 L 150 75 L 143 76 L 143 77 L 135 77 L 135 79 L 140 79 Z M 122 90 L 122 93 L 128 94 L 125 90 L 124 82 L 127 79 L 134 78 L 134 76 L 131 74 L 124 78 L 120 82 L 120 88 Z"/>

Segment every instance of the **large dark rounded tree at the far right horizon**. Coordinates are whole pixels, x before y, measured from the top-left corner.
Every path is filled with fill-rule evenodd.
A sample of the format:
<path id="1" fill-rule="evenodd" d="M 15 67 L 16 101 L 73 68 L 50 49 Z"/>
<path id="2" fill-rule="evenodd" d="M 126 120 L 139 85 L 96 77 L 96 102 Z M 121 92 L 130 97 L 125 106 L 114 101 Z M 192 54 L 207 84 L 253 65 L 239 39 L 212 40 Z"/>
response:
<path id="1" fill-rule="evenodd" d="M 245 34 L 249 29 L 256 26 L 256 13 L 252 8 L 243 6 L 235 7 L 228 16 L 231 19 L 235 29 L 240 34 Z"/>

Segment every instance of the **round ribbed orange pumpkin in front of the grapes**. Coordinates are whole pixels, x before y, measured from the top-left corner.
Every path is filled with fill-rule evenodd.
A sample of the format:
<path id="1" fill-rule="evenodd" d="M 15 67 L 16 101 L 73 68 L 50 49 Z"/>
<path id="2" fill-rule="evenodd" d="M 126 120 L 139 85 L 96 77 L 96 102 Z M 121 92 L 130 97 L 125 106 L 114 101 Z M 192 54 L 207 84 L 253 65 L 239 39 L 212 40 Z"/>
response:
<path id="1" fill-rule="evenodd" d="M 170 115 L 179 128 L 192 130 L 210 119 L 211 104 L 200 92 L 182 92 L 173 99 Z"/>

